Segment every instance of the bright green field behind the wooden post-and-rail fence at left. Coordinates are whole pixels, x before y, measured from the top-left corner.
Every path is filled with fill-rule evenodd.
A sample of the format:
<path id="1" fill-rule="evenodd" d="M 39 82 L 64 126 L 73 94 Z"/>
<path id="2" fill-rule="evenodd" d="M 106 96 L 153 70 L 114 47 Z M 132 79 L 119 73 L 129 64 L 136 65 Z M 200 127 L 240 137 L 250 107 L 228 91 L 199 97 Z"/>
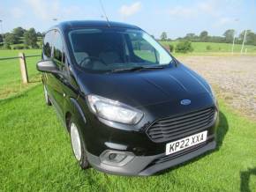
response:
<path id="1" fill-rule="evenodd" d="M 19 52 L 23 52 L 25 55 L 41 54 L 40 49 L 0 50 L 0 58 L 18 56 Z M 26 58 L 28 78 L 30 82 L 34 82 L 29 86 L 22 85 L 21 83 L 19 59 L 0 60 L 0 100 L 24 91 L 40 81 L 39 72 L 35 69 L 35 63 L 40 58 L 40 56 Z"/>

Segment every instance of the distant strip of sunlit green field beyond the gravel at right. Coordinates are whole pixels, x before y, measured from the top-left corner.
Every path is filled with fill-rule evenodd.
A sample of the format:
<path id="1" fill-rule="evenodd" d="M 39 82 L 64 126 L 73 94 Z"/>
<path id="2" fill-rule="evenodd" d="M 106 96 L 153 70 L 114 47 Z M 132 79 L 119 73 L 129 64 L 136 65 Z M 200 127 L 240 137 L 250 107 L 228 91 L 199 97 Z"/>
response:
<path id="1" fill-rule="evenodd" d="M 177 41 L 161 41 L 162 45 L 172 44 L 177 45 Z M 211 49 L 207 50 L 207 46 L 210 46 Z M 240 44 L 235 44 L 234 53 L 240 53 L 241 50 Z M 215 42 L 192 42 L 193 53 L 231 53 L 232 44 L 230 43 L 215 43 Z M 256 46 L 245 45 L 244 51 L 247 48 L 248 54 L 256 54 Z"/>

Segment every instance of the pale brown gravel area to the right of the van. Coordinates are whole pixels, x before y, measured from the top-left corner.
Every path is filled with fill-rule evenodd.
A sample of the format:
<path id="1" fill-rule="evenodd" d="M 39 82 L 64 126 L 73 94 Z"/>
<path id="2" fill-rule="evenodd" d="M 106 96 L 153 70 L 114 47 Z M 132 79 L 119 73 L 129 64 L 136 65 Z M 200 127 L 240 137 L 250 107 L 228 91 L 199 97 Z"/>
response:
<path id="1" fill-rule="evenodd" d="M 256 56 L 185 56 L 178 59 L 206 78 L 231 107 L 256 120 Z"/>

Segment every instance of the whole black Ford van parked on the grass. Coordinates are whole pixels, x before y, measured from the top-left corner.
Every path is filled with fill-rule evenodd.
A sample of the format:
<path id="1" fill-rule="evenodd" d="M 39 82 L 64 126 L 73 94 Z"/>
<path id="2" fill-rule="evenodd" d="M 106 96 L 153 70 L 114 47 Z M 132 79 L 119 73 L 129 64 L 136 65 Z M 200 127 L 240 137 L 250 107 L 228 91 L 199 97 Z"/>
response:
<path id="1" fill-rule="evenodd" d="M 150 175 L 215 149 L 211 86 L 138 26 L 60 23 L 37 69 L 84 169 Z"/>

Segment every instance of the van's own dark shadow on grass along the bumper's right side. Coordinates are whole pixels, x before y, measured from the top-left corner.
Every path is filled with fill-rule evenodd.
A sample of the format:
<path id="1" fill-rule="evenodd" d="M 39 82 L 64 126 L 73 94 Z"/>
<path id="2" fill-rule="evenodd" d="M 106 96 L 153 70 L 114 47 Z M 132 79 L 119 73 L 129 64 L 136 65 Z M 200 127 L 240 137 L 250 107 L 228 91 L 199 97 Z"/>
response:
<path id="1" fill-rule="evenodd" d="M 188 160 L 188 161 L 186 161 L 186 162 L 184 162 L 184 163 L 182 163 L 182 164 L 180 164 L 180 165 L 172 166 L 172 167 L 170 167 L 169 169 L 163 170 L 163 171 L 161 171 L 161 172 L 159 172 L 159 173 L 157 173 L 157 174 L 155 174 L 155 175 L 169 173 L 169 171 L 172 171 L 172 170 L 174 170 L 174 169 L 177 169 L 177 168 L 179 168 L 180 166 L 185 166 L 185 165 L 191 164 L 191 163 L 193 163 L 193 162 L 195 162 L 195 161 L 198 161 L 199 159 L 202 159 L 203 157 L 205 157 L 205 156 L 211 154 L 211 153 L 214 152 L 214 151 L 219 151 L 219 150 L 221 149 L 221 147 L 222 147 L 223 140 L 224 140 L 224 138 L 225 138 L 225 136 L 226 136 L 228 130 L 229 130 L 229 122 L 228 122 L 228 120 L 227 120 L 225 114 L 223 114 L 223 113 L 220 111 L 220 113 L 219 113 L 219 125 L 218 125 L 218 127 L 216 128 L 216 137 L 217 137 L 217 138 L 216 138 L 216 143 L 217 143 L 217 145 L 216 145 L 215 150 L 213 150 L 213 151 L 207 151 L 207 152 L 205 152 L 204 154 L 200 155 L 199 157 L 196 157 L 196 158 L 194 158 L 194 159 Z"/>

